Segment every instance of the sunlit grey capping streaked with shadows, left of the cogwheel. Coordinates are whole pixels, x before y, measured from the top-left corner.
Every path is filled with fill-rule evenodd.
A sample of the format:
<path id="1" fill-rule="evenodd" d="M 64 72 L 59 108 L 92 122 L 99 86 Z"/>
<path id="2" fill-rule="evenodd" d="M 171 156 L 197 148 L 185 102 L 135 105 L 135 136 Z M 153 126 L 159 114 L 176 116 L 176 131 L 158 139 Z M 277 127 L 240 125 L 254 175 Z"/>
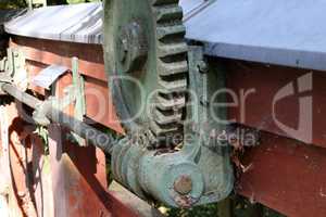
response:
<path id="1" fill-rule="evenodd" d="M 35 9 L 5 24 L 13 35 L 74 41 L 102 42 L 102 3 L 82 3 Z"/>

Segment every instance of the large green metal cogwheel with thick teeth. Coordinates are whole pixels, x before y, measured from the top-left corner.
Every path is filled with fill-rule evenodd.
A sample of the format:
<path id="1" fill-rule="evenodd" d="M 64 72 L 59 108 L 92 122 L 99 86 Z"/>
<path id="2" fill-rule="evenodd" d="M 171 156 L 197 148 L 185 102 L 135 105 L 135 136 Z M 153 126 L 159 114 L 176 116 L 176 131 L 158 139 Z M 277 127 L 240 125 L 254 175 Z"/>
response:
<path id="1" fill-rule="evenodd" d="M 146 130 L 155 144 L 181 132 L 188 47 L 178 0 L 106 0 L 103 50 L 126 131 Z"/>

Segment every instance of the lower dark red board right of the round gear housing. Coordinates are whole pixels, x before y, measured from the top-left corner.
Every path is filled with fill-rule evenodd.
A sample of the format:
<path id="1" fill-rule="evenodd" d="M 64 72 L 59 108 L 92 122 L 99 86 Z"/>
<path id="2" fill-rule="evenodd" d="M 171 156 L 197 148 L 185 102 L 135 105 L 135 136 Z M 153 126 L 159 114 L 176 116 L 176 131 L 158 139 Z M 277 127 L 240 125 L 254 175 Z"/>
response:
<path id="1" fill-rule="evenodd" d="M 326 216 L 326 149 L 263 132 L 243 163 L 239 193 L 288 216 Z"/>

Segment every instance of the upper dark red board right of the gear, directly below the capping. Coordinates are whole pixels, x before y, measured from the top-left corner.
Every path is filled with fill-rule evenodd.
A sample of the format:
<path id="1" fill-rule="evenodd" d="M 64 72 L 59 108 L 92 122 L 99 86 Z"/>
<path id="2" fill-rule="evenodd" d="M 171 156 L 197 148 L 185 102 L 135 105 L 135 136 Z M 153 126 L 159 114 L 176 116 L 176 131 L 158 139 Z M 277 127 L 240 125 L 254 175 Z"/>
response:
<path id="1" fill-rule="evenodd" d="M 262 65 L 256 63 L 227 61 L 228 88 L 237 95 L 237 106 L 229 107 L 229 119 L 236 119 L 253 128 L 269 131 L 280 136 L 313 143 L 326 148 L 324 122 L 326 111 L 326 74 L 325 72 L 312 72 L 281 66 Z M 300 78 L 311 75 L 312 86 L 310 90 L 300 90 Z M 285 91 L 283 88 L 292 86 L 294 93 L 275 100 L 277 93 Z M 290 89 L 291 90 L 291 89 Z M 288 90 L 286 90 L 288 91 Z M 241 97 L 242 95 L 242 97 Z M 246 97 L 243 97 L 246 95 Z M 310 107 L 300 107 L 302 100 L 312 100 L 312 138 L 309 130 L 300 129 L 300 118 L 310 116 Z M 274 101 L 275 100 L 275 101 Z M 301 100 L 301 101 L 300 101 Z M 275 117 L 273 117 L 273 101 L 275 102 Z M 304 115 L 300 115 L 303 112 Z M 279 124 L 281 123 L 281 124 Z M 303 128 L 310 128 L 310 122 L 302 122 Z M 286 126 L 286 128 L 280 127 Z M 294 133 L 288 130 L 291 128 Z"/>

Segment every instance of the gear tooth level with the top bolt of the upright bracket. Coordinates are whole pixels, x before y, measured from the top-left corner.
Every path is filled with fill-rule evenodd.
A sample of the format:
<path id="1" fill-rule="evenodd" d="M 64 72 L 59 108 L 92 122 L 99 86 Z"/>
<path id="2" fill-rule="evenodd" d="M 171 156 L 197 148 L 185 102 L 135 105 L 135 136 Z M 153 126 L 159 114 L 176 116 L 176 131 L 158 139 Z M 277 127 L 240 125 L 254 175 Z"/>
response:
<path id="1" fill-rule="evenodd" d="M 162 76 L 186 73 L 188 72 L 188 63 L 186 60 L 173 63 L 165 63 L 162 60 L 159 60 L 158 71 Z"/>

